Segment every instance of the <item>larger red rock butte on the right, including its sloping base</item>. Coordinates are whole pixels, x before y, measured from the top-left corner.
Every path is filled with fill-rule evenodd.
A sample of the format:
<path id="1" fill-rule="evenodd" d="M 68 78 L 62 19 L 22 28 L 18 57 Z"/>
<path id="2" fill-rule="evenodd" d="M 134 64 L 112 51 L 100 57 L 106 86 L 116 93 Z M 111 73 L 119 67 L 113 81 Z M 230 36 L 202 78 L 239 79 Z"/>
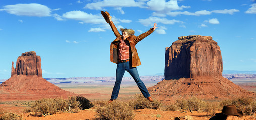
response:
<path id="1" fill-rule="evenodd" d="M 165 79 L 148 88 L 162 101 L 189 98 L 223 99 L 255 97 L 222 76 L 223 62 L 218 43 L 211 36 L 181 36 L 166 47 Z"/>

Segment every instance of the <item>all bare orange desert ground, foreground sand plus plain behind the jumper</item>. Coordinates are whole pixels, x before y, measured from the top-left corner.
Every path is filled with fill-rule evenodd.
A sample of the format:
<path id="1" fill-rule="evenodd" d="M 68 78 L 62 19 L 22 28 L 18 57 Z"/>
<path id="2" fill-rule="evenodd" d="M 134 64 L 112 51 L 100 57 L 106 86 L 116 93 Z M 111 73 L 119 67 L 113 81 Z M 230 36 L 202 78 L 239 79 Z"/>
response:
<path id="1" fill-rule="evenodd" d="M 95 85 L 65 85 L 60 84 L 58 85 L 60 88 L 83 95 L 84 97 L 88 98 L 91 101 L 95 100 L 108 100 L 110 98 L 112 92 L 112 85 L 102 85 L 102 86 L 95 86 Z M 150 87 L 151 85 L 147 85 Z M 246 87 L 246 86 L 244 86 Z M 248 87 L 247 87 L 248 88 Z M 248 89 L 249 90 L 249 89 Z M 251 90 L 251 89 L 250 89 Z M 253 88 L 252 91 L 254 91 Z M 132 96 L 135 94 L 139 94 L 140 91 L 137 86 L 135 85 L 123 85 L 120 89 L 119 100 L 126 101 L 131 100 Z M 17 114 L 22 114 L 23 119 L 95 119 L 95 109 L 86 109 L 81 110 L 78 113 L 56 113 L 53 115 L 49 115 L 46 117 L 32 117 L 27 116 L 28 114 L 24 114 L 23 110 L 27 108 L 33 101 L 9 101 L 9 102 L 1 102 L 0 101 L 0 113 L 2 112 L 14 112 Z M 174 119 L 175 117 L 185 117 L 189 116 L 192 117 L 194 120 L 202 120 L 202 119 L 209 119 L 210 117 L 207 116 L 205 112 L 172 112 L 172 111 L 163 111 L 163 110 L 154 110 L 154 109 L 140 109 L 134 110 L 135 118 L 134 119 L 147 119 L 147 120 L 155 120 L 155 119 Z M 244 120 L 252 120 L 256 119 L 256 114 L 254 116 L 244 116 Z"/>

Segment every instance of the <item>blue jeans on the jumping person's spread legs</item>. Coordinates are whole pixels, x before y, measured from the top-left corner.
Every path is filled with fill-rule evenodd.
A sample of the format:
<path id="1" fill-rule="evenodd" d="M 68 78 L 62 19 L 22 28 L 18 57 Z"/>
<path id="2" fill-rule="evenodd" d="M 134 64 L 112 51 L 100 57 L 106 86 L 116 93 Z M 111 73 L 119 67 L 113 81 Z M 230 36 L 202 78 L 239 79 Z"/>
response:
<path id="1" fill-rule="evenodd" d="M 133 79 L 136 82 L 137 86 L 139 87 L 142 95 L 145 98 L 150 97 L 150 94 L 149 94 L 146 86 L 144 85 L 144 83 L 141 81 L 141 79 L 139 77 L 137 68 L 131 67 L 129 64 L 129 61 L 128 61 L 128 62 L 117 64 L 115 86 L 112 91 L 111 99 L 117 99 L 117 97 L 118 97 L 121 82 L 122 82 L 122 77 L 125 73 L 125 70 L 127 70 L 129 72 L 129 74 L 133 77 Z"/>

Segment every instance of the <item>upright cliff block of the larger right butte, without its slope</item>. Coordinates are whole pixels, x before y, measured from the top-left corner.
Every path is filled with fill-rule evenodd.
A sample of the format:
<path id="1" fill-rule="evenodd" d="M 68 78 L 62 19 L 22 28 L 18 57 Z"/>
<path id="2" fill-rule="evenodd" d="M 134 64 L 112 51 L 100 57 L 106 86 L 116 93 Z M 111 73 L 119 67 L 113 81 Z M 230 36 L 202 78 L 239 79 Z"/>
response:
<path id="1" fill-rule="evenodd" d="M 211 36 L 182 36 L 166 47 L 165 79 L 222 76 L 220 47 Z"/>

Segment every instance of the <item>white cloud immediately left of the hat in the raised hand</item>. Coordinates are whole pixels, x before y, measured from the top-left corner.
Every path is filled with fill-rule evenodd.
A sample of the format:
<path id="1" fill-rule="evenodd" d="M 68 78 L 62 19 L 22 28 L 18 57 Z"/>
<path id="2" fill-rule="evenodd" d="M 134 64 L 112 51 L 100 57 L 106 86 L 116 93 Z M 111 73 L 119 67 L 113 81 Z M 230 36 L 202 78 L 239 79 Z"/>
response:
<path id="1" fill-rule="evenodd" d="M 84 23 L 100 24 L 106 23 L 101 14 L 93 15 L 83 11 L 70 11 L 62 16 L 63 18 L 83 21 Z"/>

